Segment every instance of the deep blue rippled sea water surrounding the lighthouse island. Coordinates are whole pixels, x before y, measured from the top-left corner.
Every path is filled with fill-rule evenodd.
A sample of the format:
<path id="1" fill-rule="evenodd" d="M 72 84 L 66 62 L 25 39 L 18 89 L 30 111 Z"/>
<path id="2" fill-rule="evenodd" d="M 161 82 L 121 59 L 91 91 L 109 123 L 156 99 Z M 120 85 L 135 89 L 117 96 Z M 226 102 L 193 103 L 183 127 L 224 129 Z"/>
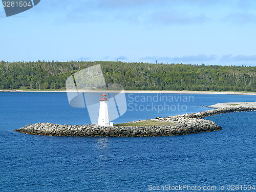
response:
<path id="1" fill-rule="evenodd" d="M 193 113 L 219 102 L 246 101 L 256 101 L 256 96 L 130 93 L 127 111 L 112 121 Z M 207 117 L 223 127 L 218 132 L 57 137 L 13 130 L 36 122 L 92 123 L 86 108 L 69 105 L 66 93 L 0 92 L 0 109 L 0 191 L 256 191 L 256 112 Z M 240 188 L 245 185 L 251 190 Z"/>

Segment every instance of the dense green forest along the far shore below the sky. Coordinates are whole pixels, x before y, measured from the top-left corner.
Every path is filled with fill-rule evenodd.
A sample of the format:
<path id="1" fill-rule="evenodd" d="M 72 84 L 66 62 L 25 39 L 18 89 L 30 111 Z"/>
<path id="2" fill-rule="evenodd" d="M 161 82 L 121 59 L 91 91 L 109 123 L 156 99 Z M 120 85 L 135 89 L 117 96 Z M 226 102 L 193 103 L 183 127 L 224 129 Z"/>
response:
<path id="1" fill-rule="evenodd" d="M 67 77 L 101 65 L 107 83 L 125 90 L 256 91 L 256 67 L 113 61 L 0 62 L 0 89 L 65 89 Z"/>

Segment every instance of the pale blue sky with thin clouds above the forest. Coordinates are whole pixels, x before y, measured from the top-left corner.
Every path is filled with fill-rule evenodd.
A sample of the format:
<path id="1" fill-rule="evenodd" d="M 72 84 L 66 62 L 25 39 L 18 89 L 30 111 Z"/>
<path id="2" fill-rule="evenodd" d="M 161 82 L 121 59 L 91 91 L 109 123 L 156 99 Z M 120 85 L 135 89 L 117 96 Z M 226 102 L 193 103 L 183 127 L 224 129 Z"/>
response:
<path id="1" fill-rule="evenodd" d="M 0 22 L 5 61 L 256 66 L 256 1 L 41 0 Z"/>

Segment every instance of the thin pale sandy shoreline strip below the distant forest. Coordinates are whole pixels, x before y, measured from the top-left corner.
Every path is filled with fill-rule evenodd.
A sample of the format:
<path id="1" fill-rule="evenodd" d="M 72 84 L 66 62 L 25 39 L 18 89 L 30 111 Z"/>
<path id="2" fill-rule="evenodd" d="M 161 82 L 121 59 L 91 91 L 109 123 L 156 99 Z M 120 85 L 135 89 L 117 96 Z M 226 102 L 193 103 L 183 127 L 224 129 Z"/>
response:
<path id="1" fill-rule="evenodd" d="M 67 92 L 65 90 L 0 90 L 0 92 Z M 102 92 L 102 91 L 94 91 Z M 225 95 L 256 95 L 255 92 L 218 92 L 218 91 L 124 91 L 125 93 L 169 93 L 169 94 L 225 94 Z"/>

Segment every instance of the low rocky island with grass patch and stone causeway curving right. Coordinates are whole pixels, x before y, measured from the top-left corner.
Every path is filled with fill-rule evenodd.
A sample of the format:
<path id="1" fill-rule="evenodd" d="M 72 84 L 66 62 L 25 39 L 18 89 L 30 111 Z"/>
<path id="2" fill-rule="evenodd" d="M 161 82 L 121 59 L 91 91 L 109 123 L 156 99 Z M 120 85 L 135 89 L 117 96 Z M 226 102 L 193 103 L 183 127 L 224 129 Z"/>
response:
<path id="1" fill-rule="evenodd" d="M 255 104 L 255 105 L 254 105 Z M 114 126 L 88 125 L 61 125 L 53 123 L 35 123 L 26 125 L 14 131 L 24 134 L 48 135 L 48 136 L 110 136 L 110 137 L 151 137 L 151 136 L 173 136 L 186 135 L 201 132 L 219 131 L 222 127 L 216 123 L 202 119 L 211 115 L 231 112 L 255 111 L 256 102 L 250 106 L 237 106 L 226 104 L 224 108 L 208 110 L 199 113 L 183 114 L 169 117 L 156 117 L 134 121 L 130 123 L 117 124 Z M 222 105 L 221 105 L 222 106 Z"/>

